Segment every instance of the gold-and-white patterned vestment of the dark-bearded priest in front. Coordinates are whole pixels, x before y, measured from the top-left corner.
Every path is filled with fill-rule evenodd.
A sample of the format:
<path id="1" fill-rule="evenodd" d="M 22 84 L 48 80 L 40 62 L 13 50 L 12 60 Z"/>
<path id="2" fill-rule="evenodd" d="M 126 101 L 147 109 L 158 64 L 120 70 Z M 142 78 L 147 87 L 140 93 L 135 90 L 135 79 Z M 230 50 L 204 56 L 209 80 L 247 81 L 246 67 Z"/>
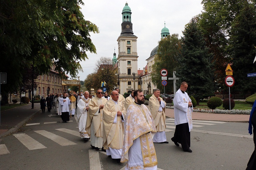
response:
<path id="1" fill-rule="evenodd" d="M 127 109 L 121 162 L 128 161 L 128 151 L 133 144 L 133 140 L 140 138 L 144 167 L 157 165 L 156 151 L 149 132 L 156 132 L 151 113 L 144 104 L 137 105 L 133 102 Z"/>

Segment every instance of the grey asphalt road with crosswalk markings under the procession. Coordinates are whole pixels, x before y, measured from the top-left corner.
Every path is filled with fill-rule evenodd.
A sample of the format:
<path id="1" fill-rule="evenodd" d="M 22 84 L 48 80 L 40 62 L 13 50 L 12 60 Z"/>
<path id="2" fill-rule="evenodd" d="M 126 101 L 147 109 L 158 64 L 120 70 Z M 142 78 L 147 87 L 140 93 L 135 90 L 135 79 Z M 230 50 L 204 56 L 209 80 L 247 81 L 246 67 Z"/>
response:
<path id="1" fill-rule="evenodd" d="M 62 123 L 54 113 L 48 115 L 37 114 L 17 133 L 0 139 L 0 169 L 123 169 L 125 163 L 92 150 L 90 142 L 79 137 L 74 117 Z M 171 142 L 173 123 L 167 119 L 169 143 L 155 143 L 159 169 L 246 168 L 254 149 L 248 123 L 194 121 L 192 153 Z"/>

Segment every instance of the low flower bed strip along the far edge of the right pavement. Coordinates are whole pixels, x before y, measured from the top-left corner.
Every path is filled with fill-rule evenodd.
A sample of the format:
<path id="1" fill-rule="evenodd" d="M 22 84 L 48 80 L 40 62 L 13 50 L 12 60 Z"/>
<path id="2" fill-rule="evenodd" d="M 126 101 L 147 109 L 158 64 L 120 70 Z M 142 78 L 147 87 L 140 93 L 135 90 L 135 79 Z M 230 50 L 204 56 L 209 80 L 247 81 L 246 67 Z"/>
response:
<path id="1" fill-rule="evenodd" d="M 166 106 L 166 108 L 173 109 L 173 106 Z M 242 115 L 250 115 L 251 110 L 222 110 L 222 109 L 207 109 L 207 108 L 193 108 L 193 112 L 202 112 L 202 113 L 216 113 L 216 114 L 242 114 Z"/>

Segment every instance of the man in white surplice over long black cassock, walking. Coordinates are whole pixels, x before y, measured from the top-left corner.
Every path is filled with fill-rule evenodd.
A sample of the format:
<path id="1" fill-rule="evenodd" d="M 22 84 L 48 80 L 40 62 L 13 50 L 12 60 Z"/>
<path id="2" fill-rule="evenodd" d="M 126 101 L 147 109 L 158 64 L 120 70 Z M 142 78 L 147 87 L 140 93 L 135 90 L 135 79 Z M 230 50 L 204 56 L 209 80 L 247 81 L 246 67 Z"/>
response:
<path id="1" fill-rule="evenodd" d="M 173 99 L 174 104 L 174 124 L 175 132 L 171 140 L 176 146 L 179 143 L 185 152 L 192 152 L 190 149 L 190 130 L 192 126 L 192 112 L 193 105 L 188 94 L 185 92 L 187 90 L 188 84 L 182 82 L 180 89 L 175 93 Z"/>

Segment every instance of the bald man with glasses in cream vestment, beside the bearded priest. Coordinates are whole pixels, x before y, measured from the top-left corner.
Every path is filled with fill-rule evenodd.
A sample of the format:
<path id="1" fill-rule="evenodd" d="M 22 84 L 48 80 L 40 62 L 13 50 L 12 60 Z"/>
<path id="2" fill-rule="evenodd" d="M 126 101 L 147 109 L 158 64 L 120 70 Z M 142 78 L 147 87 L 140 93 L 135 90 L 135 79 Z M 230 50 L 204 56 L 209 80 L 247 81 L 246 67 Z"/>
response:
<path id="1" fill-rule="evenodd" d="M 117 91 L 111 92 L 111 97 L 103 108 L 103 147 L 107 155 L 120 162 L 124 143 L 125 106 L 118 101 Z"/>

